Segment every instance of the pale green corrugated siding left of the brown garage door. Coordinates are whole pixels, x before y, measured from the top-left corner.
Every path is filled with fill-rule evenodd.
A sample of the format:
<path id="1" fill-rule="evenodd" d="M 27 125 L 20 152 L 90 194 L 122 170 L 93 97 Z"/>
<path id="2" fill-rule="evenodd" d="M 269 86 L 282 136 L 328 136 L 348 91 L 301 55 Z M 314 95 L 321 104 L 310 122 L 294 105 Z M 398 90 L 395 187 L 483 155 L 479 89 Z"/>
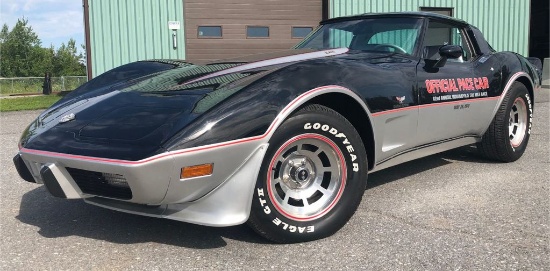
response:
<path id="1" fill-rule="evenodd" d="M 92 76 L 144 59 L 185 59 L 183 0 L 88 0 Z M 168 21 L 179 21 L 172 46 Z"/>

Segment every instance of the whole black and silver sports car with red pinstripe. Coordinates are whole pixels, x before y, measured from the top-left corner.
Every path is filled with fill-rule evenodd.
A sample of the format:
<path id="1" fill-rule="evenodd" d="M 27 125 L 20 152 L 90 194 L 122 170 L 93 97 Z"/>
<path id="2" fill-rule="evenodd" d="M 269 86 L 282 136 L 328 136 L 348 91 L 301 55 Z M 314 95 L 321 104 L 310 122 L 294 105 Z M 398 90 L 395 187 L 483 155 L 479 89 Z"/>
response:
<path id="1" fill-rule="evenodd" d="M 350 219 L 370 172 L 469 144 L 520 158 L 539 86 L 464 21 L 335 18 L 289 51 L 108 71 L 31 123 L 14 163 L 56 197 L 308 241 Z"/>

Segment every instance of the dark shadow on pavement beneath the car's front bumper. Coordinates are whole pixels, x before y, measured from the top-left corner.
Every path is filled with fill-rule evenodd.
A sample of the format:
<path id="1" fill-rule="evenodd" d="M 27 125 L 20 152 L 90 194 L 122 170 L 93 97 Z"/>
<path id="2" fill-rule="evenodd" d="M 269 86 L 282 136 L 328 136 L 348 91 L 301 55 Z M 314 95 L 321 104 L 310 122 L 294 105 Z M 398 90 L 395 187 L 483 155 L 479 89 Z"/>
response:
<path id="1" fill-rule="evenodd" d="M 132 215 L 82 200 L 54 198 L 43 186 L 23 195 L 16 218 L 38 227 L 46 238 L 81 236 L 118 244 L 156 242 L 196 249 L 224 247 L 226 238 L 268 243 L 246 225 L 215 228 Z"/>

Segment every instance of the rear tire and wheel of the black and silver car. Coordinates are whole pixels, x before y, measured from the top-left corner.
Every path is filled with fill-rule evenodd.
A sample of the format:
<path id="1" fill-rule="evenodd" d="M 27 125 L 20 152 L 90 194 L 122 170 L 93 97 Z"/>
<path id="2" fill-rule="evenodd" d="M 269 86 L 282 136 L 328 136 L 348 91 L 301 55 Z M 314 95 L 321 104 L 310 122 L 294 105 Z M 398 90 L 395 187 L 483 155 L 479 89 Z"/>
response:
<path id="1" fill-rule="evenodd" d="M 532 99 L 525 85 L 514 82 L 489 129 L 477 144 L 480 153 L 502 162 L 518 160 L 527 147 L 533 121 Z"/>

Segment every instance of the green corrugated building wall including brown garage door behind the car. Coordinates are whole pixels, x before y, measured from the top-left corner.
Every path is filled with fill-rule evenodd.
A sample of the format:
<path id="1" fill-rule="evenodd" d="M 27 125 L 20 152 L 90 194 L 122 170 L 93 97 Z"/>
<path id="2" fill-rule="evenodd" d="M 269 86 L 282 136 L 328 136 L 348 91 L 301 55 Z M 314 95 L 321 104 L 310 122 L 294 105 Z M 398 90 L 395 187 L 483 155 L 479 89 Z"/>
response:
<path id="1" fill-rule="evenodd" d="M 316 26 L 327 2 L 329 17 L 453 8 L 454 17 L 479 27 L 496 50 L 526 56 L 529 49 L 529 0 L 83 1 L 89 6 L 91 77 L 144 59 L 214 60 L 288 49 L 299 42 L 291 27 Z M 168 21 L 181 24 L 177 49 Z M 223 37 L 198 38 L 199 25 L 221 25 Z M 247 38 L 246 26 L 269 26 L 270 37 Z"/>

